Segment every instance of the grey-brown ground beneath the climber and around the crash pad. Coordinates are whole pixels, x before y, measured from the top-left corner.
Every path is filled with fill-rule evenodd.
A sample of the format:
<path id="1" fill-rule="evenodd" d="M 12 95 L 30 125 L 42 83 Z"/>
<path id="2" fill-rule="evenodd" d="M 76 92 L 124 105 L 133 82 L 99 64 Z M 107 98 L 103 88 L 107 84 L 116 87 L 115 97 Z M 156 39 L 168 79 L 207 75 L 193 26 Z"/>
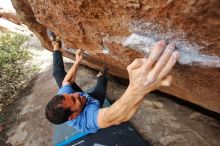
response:
<path id="1" fill-rule="evenodd" d="M 57 93 L 57 86 L 52 78 L 51 53 L 40 50 L 38 43 L 33 38 L 29 47 L 36 47 L 37 44 L 38 52 L 34 59 L 36 61 L 37 58 L 41 58 L 38 63 L 43 65 L 42 72 L 31 81 L 26 92 L 11 107 L 16 112 L 10 115 L 14 118 L 6 125 L 7 138 L 0 140 L 13 146 L 53 145 L 53 125 L 46 120 L 44 109 L 46 103 Z M 66 68 L 70 68 L 70 61 L 65 62 Z M 97 71 L 81 65 L 76 83 L 86 90 L 95 84 L 96 73 Z M 112 101 L 119 98 L 126 89 L 126 85 L 119 81 L 110 77 L 107 97 Z M 218 114 L 192 104 L 168 95 L 151 93 L 145 97 L 139 111 L 130 122 L 153 146 L 219 146 L 219 119 Z"/>

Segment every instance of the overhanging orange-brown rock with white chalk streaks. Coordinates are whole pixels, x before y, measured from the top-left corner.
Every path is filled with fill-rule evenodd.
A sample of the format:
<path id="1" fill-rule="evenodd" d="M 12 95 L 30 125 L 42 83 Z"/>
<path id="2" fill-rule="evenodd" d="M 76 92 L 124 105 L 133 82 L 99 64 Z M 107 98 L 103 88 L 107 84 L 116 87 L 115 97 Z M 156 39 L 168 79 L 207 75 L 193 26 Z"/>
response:
<path id="1" fill-rule="evenodd" d="M 72 57 L 70 48 L 84 49 L 85 64 L 105 63 L 123 78 L 126 66 L 147 55 L 157 40 L 175 42 L 182 57 L 172 71 L 172 87 L 160 90 L 220 113 L 219 0 L 12 2 L 45 48 L 51 49 L 49 28 L 62 38 L 66 56 Z"/>

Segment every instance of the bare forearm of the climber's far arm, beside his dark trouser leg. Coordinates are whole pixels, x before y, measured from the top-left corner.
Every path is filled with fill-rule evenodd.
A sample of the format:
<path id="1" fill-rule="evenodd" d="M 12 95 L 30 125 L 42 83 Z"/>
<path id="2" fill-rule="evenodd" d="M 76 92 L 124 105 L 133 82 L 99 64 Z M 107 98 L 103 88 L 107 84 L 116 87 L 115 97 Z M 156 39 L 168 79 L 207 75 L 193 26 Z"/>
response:
<path id="1" fill-rule="evenodd" d="M 78 67 L 79 67 L 79 63 L 76 62 L 73 64 L 73 66 L 70 68 L 70 70 L 66 74 L 66 76 L 63 80 L 63 84 L 64 83 L 73 83 L 75 81 Z"/>

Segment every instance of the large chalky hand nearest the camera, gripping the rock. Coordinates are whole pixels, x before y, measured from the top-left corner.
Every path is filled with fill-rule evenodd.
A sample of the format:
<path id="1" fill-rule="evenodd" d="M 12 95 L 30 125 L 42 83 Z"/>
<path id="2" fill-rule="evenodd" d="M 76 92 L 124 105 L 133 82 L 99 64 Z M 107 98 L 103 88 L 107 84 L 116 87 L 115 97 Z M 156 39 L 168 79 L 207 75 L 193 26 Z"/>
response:
<path id="1" fill-rule="evenodd" d="M 160 86 L 170 86 L 172 76 L 169 73 L 179 58 L 174 44 L 159 41 L 148 58 L 137 58 L 128 65 L 129 88 L 136 95 L 144 96 Z"/>

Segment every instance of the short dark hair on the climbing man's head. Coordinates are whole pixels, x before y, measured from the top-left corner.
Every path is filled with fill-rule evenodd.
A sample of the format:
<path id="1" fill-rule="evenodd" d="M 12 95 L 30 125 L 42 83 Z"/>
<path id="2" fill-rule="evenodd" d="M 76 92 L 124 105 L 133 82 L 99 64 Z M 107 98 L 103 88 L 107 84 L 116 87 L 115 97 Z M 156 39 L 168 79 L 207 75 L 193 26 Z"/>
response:
<path id="1" fill-rule="evenodd" d="M 70 108 L 63 108 L 60 105 L 65 100 L 62 94 L 55 95 L 47 104 L 45 115 L 46 118 L 53 124 L 62 124 L 68 121 L 73 113 Z"/>

